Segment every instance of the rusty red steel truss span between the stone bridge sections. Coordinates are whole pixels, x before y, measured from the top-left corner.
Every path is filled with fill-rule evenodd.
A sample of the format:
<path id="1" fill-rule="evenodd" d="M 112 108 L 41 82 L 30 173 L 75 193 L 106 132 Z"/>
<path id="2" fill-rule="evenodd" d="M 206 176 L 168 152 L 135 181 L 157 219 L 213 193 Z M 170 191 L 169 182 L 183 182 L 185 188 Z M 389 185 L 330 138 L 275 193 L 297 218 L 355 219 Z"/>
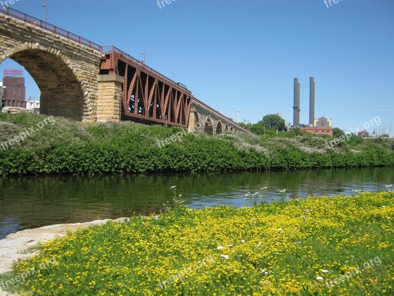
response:
<path id="1" fill-rule="evenodd" d="M 188 128 L 192 93 L 114 46 L 103 47 L 100 74 L 124 78 L 122 117 Z"/>

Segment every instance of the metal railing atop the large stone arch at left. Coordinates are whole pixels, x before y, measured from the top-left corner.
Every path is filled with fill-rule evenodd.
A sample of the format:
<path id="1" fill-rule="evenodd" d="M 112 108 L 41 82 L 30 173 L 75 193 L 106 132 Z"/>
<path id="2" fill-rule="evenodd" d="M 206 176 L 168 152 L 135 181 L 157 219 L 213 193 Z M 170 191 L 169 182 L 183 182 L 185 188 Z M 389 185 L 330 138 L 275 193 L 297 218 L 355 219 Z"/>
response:
<path id="1" fill-rule="evenodd" d="M 65 37 L 67 39 L 73 40 L 75 42 L 78 42 L 80 44 L 83 44 L 85 46 L 88 46 L 90 48 L 93 48 L 97 51 L 102 52 L 102 46 L 100 46 L 97 43 L 94 43 L 88 39 L 85 39 L 83 37 L 80 37 L 78 35 L 75 35 L 71 32 L 68 32 L 66 30 L 63 30 L 62 28 L 56 27 L 54 25 L 51 25 L 47 22 L 44 22 L 38 18 L 35 18 L 29 14 L 23 13 L 21 11 L 18 11 L 16 9 L 7 7 L 7 8 L 3 8 L 2 5 L 0 5 L 0 13 L 11 16 L 13 18 L 16 18 L 20 21 L 23 21 L 27 24 L 39 27 L 41 29 L 47 30 L 49 32 L 52 32 L 54 34 L 60 35 L 62 37 Z"/>

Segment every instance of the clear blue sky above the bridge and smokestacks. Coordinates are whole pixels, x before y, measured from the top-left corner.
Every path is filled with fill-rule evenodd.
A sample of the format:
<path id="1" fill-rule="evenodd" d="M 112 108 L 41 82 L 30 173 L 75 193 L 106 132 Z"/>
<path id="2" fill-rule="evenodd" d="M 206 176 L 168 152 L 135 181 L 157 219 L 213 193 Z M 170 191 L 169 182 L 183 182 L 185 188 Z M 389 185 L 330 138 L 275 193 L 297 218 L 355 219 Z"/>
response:
<path id="1" fill-rule="evenodd" d="M 48 0 L 48 22 L 100 45 L 115 45 L 187 85 L 201 101 L 240 120 L 282 112 L 293 123 L 293 83 L 301 83 L 301 123 L 316 113 L 344 130 L 394 119 L 394 1 Z M 42 0 L 12 8 L 45 19 Z M 329 5 L 329 4 L 328 4 Z M 6 60 L 4 68 L 21 67 Z M 28 75 L 26 75 L 28 77 Z M 27 79 L 27 96 L 39 90 Z M 369 128 L 372 132 L 374 127 Z M 379 129 L 379 127 L 377 127 Z M 394 134 L 394 122 L 391 135 Z"/>

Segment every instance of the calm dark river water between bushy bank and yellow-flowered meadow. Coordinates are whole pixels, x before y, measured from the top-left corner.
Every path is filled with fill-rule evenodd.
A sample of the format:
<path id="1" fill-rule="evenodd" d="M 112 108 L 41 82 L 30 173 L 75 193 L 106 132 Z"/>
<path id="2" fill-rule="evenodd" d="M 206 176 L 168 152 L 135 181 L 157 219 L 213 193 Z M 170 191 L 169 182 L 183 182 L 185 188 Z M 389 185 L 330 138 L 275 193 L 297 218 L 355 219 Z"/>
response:
<path id="1" fill-rule="evenodd" d="M 247 192 L 267 187 L 268 201 L 309 194 L 382 191 L 394 183 L 394 168 L 305 171 L 163 173 L 105 176 L 24 176 L 0 179 L 0 239 L 23 229 L 90 222 L 163 210 L 177 186 L 192 208 L 248 205 Z"/>

